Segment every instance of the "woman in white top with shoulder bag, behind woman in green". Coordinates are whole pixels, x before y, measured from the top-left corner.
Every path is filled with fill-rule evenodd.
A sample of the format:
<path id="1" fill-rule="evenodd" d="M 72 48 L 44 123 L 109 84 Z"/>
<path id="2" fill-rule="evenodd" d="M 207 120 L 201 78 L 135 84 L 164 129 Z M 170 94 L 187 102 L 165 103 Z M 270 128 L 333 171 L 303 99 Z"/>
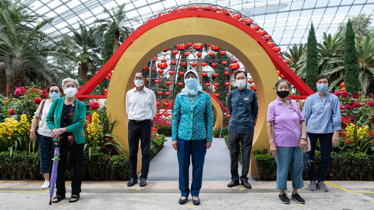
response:
<path id="1" fill-rule="evenodd" d="M 38 115 L 41 113 L 42 116 L 40 117 L 39 129 L 37 132 L 39 133 L 40 173 L 43 174 L 45 180 L 42 189 L 49 188 L 50 160 L 54 155 L 52 132 L 46 124 L 46 117 L 53 100 L 60 98 L 63 90 L 59 84 L 52 83 L 47 87 L 47 92 L 49 93 L 50 98 L 40 102 L 38 109 L 34 113 L 35 116 L 31 123 L 30 131 L 30 138 L 36 141 L 37 137 L 35 135 L 35 130 L 38 124 Z M 43 111 L 41 112 L 42 106 Z"/>

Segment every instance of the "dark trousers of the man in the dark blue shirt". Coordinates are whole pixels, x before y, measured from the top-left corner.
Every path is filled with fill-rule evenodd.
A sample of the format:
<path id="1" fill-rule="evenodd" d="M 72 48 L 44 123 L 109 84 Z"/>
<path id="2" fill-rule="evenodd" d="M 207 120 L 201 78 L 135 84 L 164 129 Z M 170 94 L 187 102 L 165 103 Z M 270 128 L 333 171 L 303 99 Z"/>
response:
<path id="1" fill-rule="evenodd" d="M 231 181 L 236 182 L 248 182 L 248 172 L 249 172 L 249 163 L 251 161 L 251 151 L 252 151 L 252 142 L 253 142 L 253 133 L 254 130 L 251 130 L 248 133 L 232 133 L 229 132 L 229 149 L 230 149 L 230 166 L 231 166 Z M 237 167 L 240 146 L 239 143 L 242 143 L 242 175 L 239 177 Z"/>

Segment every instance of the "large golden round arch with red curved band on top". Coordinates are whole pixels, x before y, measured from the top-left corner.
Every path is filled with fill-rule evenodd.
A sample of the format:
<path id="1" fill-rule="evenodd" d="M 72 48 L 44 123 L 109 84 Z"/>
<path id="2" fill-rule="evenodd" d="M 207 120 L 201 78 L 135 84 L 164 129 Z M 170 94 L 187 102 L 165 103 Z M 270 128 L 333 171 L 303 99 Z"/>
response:
<path id="1" fill-rule="evenodd" d="M 178 27 L 176 30 L 176 26 L 183 27 Z M 219 30 L 209 30 L 212 26 Z M 247 25 L 226 15 L 203 10 L 188 10 L 160 16 L 142 25 L 126 39 L 107 64 L 102 67 L 103 70 L 94 75 L 92 82 L 89 81 L 88 86 L 97 85 L 101 81 L 100 78 L 105 78 L 115 65 L 116 71 L 113 72 L 108 88 L 110 91 L 107 95 L 107 112 L 111 121 L 116 117 L 117 123 L 112 133 L 125 148 L 125 154 L 128 155 L 129 151 L 125 95 L 128 90 L 134 88 L 132 75 L 141 70 L 150 58 L 162 50 L 188 42 L 219 46 L 232 53 L 247 68 L 256 82 L 259 104 L 253 148 L 269 148 L 266 111 L 267 105 L 276 98 L 272 90 L 276 81 L 279 80 L 276 68 L 286 78 L 290 78 L 289 80 L 296 87 L 303 81 L 279 59 L 269 44 Z M 79 96 L 84 98 L 83 94 L 91 91 L 88 86 L 82 88 L 81 95 L 77 98 Z M 298 88 L 298 90 L 304 95 L 313 93 L 310 89 Z M 213 99 L 212 102 L 214 102 Z M 140 164 L 141 161 L 138 161 L 138 166 Z M 253 161 L 251 161 L 250 173 L 255 173 Z"/>

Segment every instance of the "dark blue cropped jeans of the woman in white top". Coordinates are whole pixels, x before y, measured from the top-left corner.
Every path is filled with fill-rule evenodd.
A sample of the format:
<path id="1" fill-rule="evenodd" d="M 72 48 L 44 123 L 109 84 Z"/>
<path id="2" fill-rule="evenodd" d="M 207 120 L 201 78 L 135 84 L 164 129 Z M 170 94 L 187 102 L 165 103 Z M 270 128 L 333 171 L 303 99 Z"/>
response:
<path id="1" fill-rule="evenodd" d="M 40 173 L 49 173 L 55 146 L 52 137 L 39 135 Z"/>

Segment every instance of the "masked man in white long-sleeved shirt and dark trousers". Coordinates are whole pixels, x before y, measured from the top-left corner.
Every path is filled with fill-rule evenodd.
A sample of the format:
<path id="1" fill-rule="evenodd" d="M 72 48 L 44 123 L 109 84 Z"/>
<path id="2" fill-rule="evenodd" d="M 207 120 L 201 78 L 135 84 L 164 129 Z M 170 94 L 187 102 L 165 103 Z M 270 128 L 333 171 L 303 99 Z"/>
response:
<path id="1" fill-rule="evenodd" d="M 149 162 L 151 155 L 151 127 L 153 117 L 156 115 L 156 95 L 147 87 L 144 87 L 145 74 L 138 71 L 134 76 L 136 88 L 126 93 L 126 113 L 129 118 L 128 142 L 129 142 L 129 170 L 130 181 L 127 186 L 138 183 L 137 163 L 138 146 L 142 153 L 142 166 L 140 186 L 147 185 Z"/>

